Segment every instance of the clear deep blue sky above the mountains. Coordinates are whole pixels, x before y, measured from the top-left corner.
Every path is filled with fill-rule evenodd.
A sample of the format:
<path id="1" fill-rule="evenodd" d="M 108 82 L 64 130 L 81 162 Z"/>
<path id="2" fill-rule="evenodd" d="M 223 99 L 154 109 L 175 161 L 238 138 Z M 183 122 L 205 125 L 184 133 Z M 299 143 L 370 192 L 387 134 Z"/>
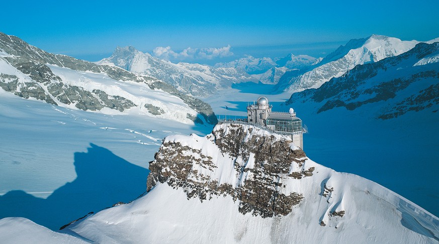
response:
<path id="1" fill-rule="evenodd" d="M 439 37 L 438 10 L 437 0 L 8 1 L 2 4 L 0 32 L 91 61 L 108 57 L 117 46 L 180 53 L 230 45 L 228 55 L 199 57 L 214 63 L 243 55 L 325 56 L 372 34 L 426 41 Z"/>

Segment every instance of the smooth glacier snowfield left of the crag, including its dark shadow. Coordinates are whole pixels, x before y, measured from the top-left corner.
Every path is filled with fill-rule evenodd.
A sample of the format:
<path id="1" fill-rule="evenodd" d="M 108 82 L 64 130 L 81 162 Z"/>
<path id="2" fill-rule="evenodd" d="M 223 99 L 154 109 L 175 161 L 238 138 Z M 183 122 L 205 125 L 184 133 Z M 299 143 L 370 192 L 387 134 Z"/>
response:
<path id="1" fill-rule="evenodd" d="M 135 109 L 85 112 L 0 89 L 0 218 L 26 217 L 58 229 L 131 201 L 145 191 L 148 162 L 164 137 L 212 129 Z"/>

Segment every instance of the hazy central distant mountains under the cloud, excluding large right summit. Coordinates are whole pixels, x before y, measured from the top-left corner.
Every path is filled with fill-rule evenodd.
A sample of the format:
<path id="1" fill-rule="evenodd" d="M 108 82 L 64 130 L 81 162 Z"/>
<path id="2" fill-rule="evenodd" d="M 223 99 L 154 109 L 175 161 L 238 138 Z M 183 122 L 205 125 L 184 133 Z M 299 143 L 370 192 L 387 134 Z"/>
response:
<path id="1" fill-rule="evenodd" d="M 276 84 L 286 71 L 302 69 L 320 60 L 321 58 L 308 55 L 289 54 L 275 59 L 248 56 L 214 66 L 183 62 L 174 64 L 128 46 L 116 48 L 110 57 L 96 63 L 152 76 L 195 96 L 209 96 L 217 90 L 230 88 L 235 83 Z"/>

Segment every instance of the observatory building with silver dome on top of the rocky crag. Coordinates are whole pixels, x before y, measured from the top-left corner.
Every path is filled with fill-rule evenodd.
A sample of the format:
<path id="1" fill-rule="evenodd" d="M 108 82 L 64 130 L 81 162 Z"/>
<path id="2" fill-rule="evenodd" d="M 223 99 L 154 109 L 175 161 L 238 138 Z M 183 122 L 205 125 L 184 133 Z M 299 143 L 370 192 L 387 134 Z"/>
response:
<path id="1" fill-rule="evenodd" d="M 267 97 L 259 97 L 256 103 L 253 102 L 247 106 L 248 123 L 288 135 L 293 140 L 294 145 L 303 149 L 303 133 L 306 133 L 307 130 L 302 128 L 302 119 L 296 117 L 293 108 L 290 108 L 289 112 L 272 112 L 272 107 Z"/>

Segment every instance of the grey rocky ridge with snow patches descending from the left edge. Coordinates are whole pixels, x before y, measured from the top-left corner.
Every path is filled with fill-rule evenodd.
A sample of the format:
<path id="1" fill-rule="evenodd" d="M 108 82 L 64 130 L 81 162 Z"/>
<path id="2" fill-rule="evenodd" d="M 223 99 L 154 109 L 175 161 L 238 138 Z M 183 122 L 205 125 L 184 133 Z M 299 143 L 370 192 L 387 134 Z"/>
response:
<path id="1" fill-rule="evenodd" d="M 13 68 L 8 70 L 11 66 Z M 4 67 L 2 70 L 9 71 L 0 72 L 0 87 L 24 98 L 33 97 L 54 105 L 74 104 L 79 109 L 91 111 L 101 110 L 105 107 L 124 111 L 142 106 L 153 115 L 164 112 L 160 109 L 152 109 L 157 107 L 157 104 L 139 102 L 135 95 L 130 96 L 124 92 L 109 94 L 108 91 L 106 92 L 105 83 L 101 89 L 91 88 L 87 84 L 89 81 L 87 79 L 93 80 L 95 77 L 102 79 L 102 76 L 107 76 L 116 82 L 144 83 L 151 90 L 163 91 L 177 96 L 198 112 L 207 123 L 217 123 L 216 116 L 209 104 L 188 96 L 156 78 L 136 75 L 115 66 L 97 65 L 66 55 L 51 54 L 29 45 L 18 37 L 4 33 L 0 33 L 0 67 Z M 69 69 L 74 71 L 72 72 L 74 74 L 85 72 L 87 76 L 79 82 L 69 82 L 67 75 L 61 77 L 58 73 L 54 73 L 53 70 L 58 68 L 61 70 L 58 71 L 60 73 Z M 186 116 L 186 112 L 184 116 Z M 203 123 L 196 114 L 188 113 L 186 118 Z"/>

